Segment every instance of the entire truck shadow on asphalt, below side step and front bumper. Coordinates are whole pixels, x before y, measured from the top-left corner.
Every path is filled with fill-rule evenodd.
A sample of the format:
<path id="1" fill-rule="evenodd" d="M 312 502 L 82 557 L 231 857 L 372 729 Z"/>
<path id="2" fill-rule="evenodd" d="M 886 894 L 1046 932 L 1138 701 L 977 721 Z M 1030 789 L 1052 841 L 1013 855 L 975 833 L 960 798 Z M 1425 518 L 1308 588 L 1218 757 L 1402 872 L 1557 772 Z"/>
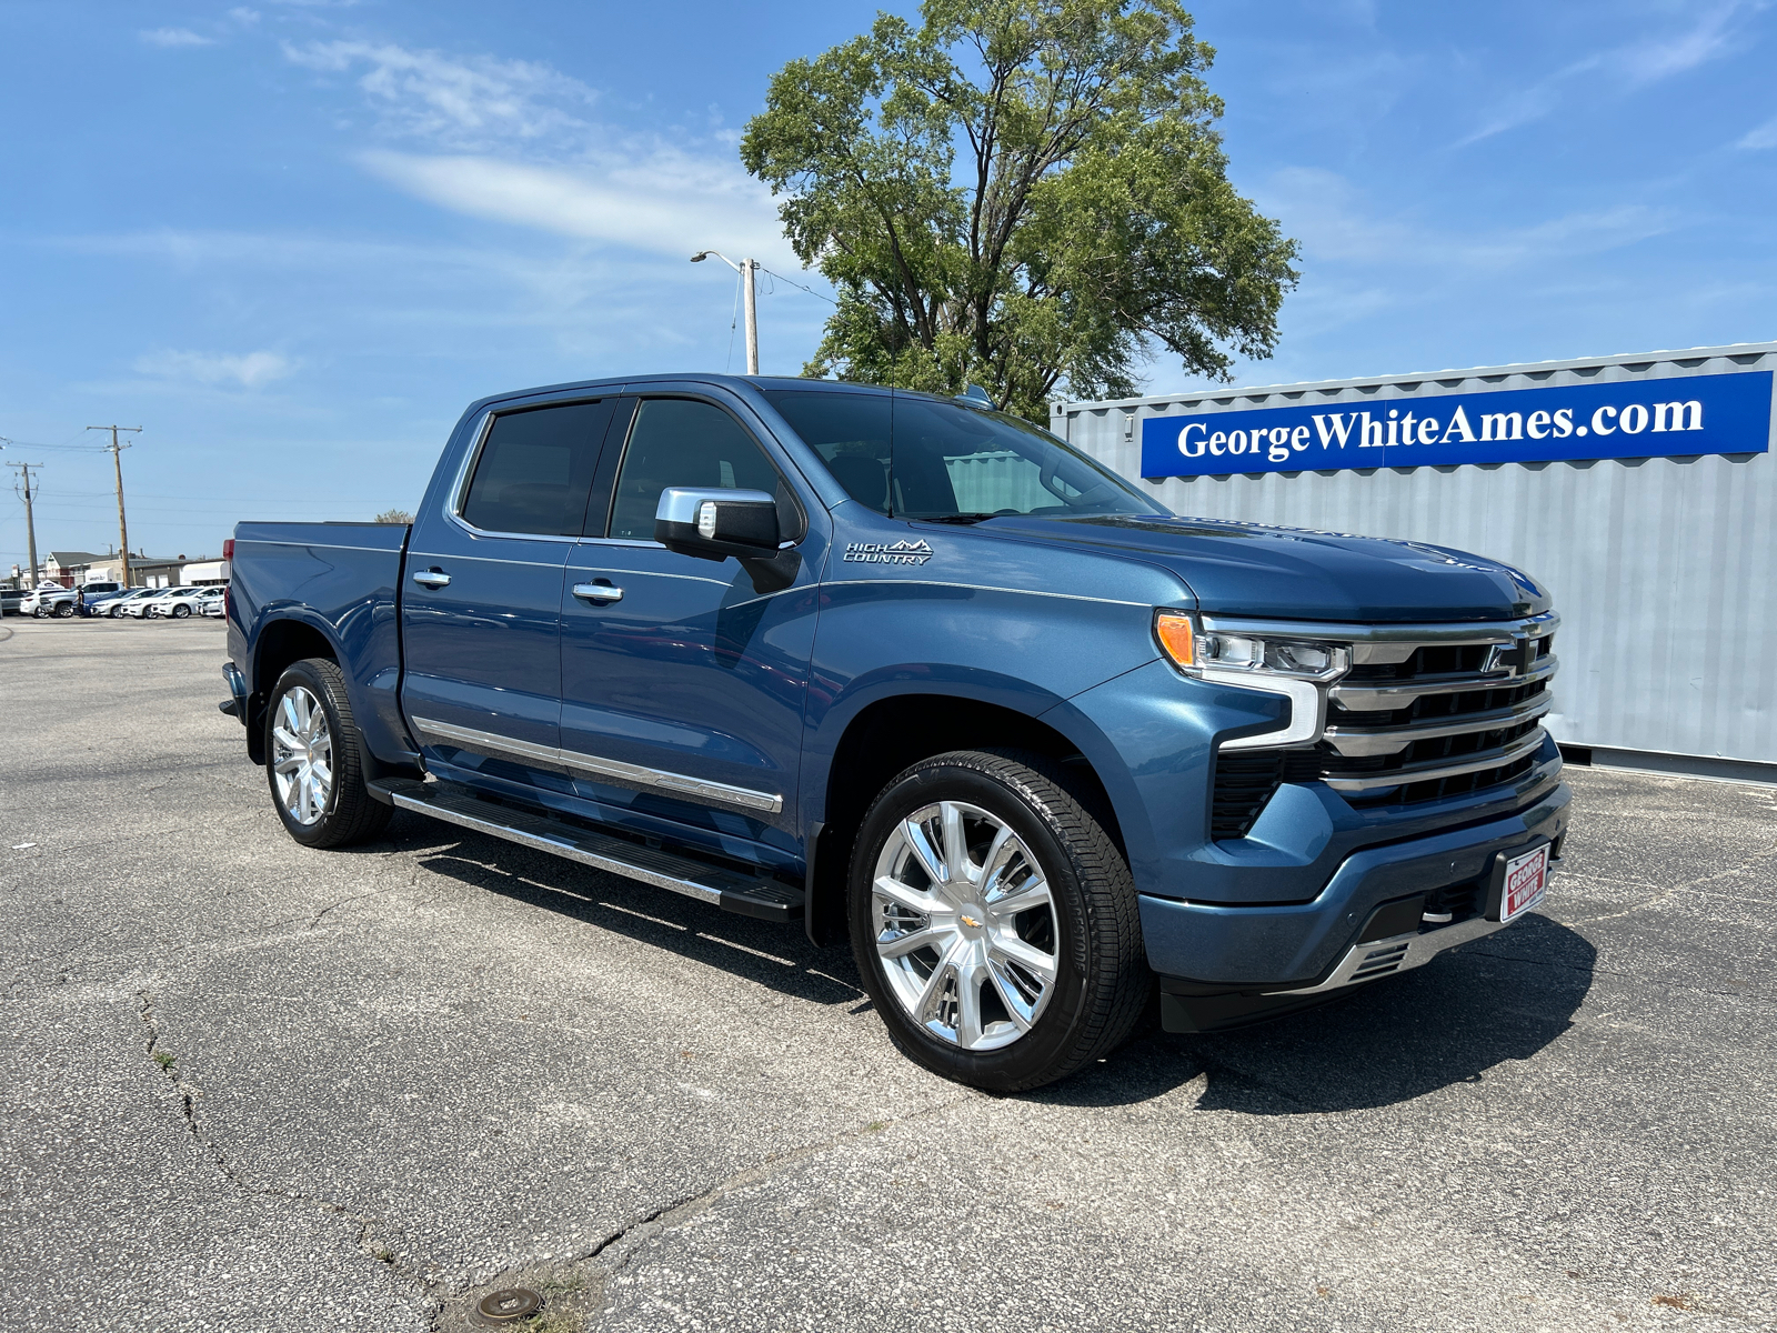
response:
<path id="1" fill-rule="evenodd" d="M 425 869 L 474 890 L 668 949 L 800 1001 L 869 1004 L 851 953 L 816 949 L 796 926 L 741 917 L 418 816 L 398 818 L 389 841 L 418 850 Z M 1532 915 L 1402 978 L 1255 1027 L 1182 1036 L 1162 1033 L 1150 1011 L 1109 1059 L 1018 1100 L 1111 1109 L 1203 1079 L 1198 1111 L 1288 1116 L 1393 1106 L 1482 1082 L 1494 1066 L 1548 1047 L 1573 1027 L 1596 956 L 1580 933 Z"/>

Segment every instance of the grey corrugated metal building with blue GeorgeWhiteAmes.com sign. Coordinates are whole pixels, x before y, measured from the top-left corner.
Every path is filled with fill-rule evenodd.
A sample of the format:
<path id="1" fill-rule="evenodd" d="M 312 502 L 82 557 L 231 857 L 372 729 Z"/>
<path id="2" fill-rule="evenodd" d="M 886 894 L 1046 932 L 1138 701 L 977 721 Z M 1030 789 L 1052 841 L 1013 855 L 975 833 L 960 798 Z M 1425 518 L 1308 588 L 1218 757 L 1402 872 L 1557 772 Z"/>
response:
<path id="1" fill-rule="evenodd" d="M 1542 581 L 1562 613 L 1546 722 L 1571 757 L 1770 782 L 1773 370 L 1777 343 L 1743 343 L 1057 403 L 1050 428 L 1123 476 L 1146 473 L 1150 492 L 1178 514 L 1507 560 Z M 1733 403 L 1709 396 L 1727 391 Z M 1502 393 L 1512 398 L 1475 402 Z M 1606 398 L 1619 405 L 1594 405 Z M 1493 405 L 1519 411 L 1487 412 L 1482 425 L 1480 409 Z M 1709 430 L 1697 434 L 1706 409 Z M 1253 428 L 1233 428 L 1242 423 Z M 1372 444 L 1374 455 L 1358 453 Z M 1452 450 L 1512 460 L 1441 462 Z M 1587 450 L 1615 457 L 1574 457 Z M 1649 457 L 1622 457 L 1637 451 Z M 1372 459 L 1386 464 L 1365 466 Z"/>

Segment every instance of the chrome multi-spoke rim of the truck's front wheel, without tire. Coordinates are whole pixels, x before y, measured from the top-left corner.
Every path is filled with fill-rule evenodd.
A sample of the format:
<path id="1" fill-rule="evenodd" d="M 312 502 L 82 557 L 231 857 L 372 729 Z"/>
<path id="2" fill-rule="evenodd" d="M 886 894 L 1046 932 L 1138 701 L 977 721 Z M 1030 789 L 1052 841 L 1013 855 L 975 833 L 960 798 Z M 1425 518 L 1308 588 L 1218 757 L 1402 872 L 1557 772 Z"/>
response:
<path id="1" fill-rule="evenodd" d="M 979 805 L 938 802 L 896 825 L 871 915 L 888 986 L 931 1036 L 997 1050 L 1043 1015 L 1061 953 L 1048 880 Z"/>

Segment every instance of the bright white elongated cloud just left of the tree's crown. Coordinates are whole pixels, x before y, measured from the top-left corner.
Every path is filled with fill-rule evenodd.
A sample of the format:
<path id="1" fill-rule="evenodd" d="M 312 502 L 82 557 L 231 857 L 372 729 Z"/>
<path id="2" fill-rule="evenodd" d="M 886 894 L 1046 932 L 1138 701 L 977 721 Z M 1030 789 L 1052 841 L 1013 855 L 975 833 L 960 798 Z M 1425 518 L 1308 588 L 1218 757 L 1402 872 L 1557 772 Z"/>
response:
<path id="1" fill-rule="evenodd" d="M 689 259 L 714 247 L 796 267 L 771 194 L 737 165 L 657 149 L 599 169 L 490 156 L 363 153 L 400 190 L 458 213 Z"/>

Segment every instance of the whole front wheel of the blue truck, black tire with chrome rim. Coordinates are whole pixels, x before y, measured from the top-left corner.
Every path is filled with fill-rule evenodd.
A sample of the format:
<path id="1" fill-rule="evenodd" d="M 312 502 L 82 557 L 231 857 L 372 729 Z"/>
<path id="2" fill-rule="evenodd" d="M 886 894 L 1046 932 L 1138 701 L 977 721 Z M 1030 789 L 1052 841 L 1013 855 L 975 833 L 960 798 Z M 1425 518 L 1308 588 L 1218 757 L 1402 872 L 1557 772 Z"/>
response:
<path id="1" fill-rule="evenodd" d="M 901 773 L 864 816 L 846 906 L 890 1040 L 974 1088 L 1040 1088 L 1107 1056 L 1151 990 L 1128 864 L 1038 755 L 960 750 Z"/>

